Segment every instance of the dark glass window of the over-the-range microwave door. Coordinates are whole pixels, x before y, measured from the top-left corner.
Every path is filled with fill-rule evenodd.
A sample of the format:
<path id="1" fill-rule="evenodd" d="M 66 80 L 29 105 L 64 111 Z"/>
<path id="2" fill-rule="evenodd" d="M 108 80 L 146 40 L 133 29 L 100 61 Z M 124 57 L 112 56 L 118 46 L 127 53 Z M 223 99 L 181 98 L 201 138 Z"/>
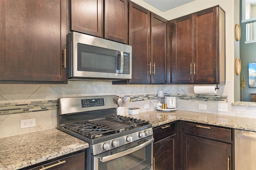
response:
<path id="1" fill-rule="evenodd" d="M 118 51 L 77 44 L 78 71 L 116 73 Z"/>

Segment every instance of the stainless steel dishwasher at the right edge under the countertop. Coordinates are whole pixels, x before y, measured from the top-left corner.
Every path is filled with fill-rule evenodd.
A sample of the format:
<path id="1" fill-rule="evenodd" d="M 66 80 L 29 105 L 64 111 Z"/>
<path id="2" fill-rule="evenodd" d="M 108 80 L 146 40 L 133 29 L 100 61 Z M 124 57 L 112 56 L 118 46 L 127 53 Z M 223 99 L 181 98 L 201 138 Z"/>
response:
<path id="1" fill-rule="evenodd" d="M 235 170 L 256 169 L 256 132 L 235 130 Z"/>

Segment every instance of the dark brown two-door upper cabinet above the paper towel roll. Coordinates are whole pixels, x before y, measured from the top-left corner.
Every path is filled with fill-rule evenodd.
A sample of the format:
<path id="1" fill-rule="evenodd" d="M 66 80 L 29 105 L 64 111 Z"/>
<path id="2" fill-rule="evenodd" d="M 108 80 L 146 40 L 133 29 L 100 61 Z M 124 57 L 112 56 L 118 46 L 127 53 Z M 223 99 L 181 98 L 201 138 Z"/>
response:
<path id="1" fill-rule="evenodd" d="M 215 6 L 172 22 L 174 84 L 225 83 L 225 12 Z"/>

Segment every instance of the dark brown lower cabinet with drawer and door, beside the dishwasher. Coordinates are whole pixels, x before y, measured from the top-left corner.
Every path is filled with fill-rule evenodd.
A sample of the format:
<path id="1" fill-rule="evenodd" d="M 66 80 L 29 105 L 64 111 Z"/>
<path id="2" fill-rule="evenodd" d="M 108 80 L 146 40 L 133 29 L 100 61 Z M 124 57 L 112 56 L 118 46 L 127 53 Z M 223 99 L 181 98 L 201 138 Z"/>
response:
<path id="1" fill-rule="evenodd" d="M 234 129 L 183 122 L 182 131 L 183 170 L 232 170 Z"/>

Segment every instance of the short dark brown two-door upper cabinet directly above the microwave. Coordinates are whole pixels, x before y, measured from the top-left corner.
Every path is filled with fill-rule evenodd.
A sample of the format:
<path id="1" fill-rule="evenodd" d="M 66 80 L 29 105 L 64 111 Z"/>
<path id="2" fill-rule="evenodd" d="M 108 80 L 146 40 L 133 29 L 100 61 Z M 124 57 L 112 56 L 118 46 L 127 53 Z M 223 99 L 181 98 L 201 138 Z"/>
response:
<path id="1" fill-rule="evenodd" d="M 128 43 L 127 0 L 71 0 L 71 30 Z"/>

